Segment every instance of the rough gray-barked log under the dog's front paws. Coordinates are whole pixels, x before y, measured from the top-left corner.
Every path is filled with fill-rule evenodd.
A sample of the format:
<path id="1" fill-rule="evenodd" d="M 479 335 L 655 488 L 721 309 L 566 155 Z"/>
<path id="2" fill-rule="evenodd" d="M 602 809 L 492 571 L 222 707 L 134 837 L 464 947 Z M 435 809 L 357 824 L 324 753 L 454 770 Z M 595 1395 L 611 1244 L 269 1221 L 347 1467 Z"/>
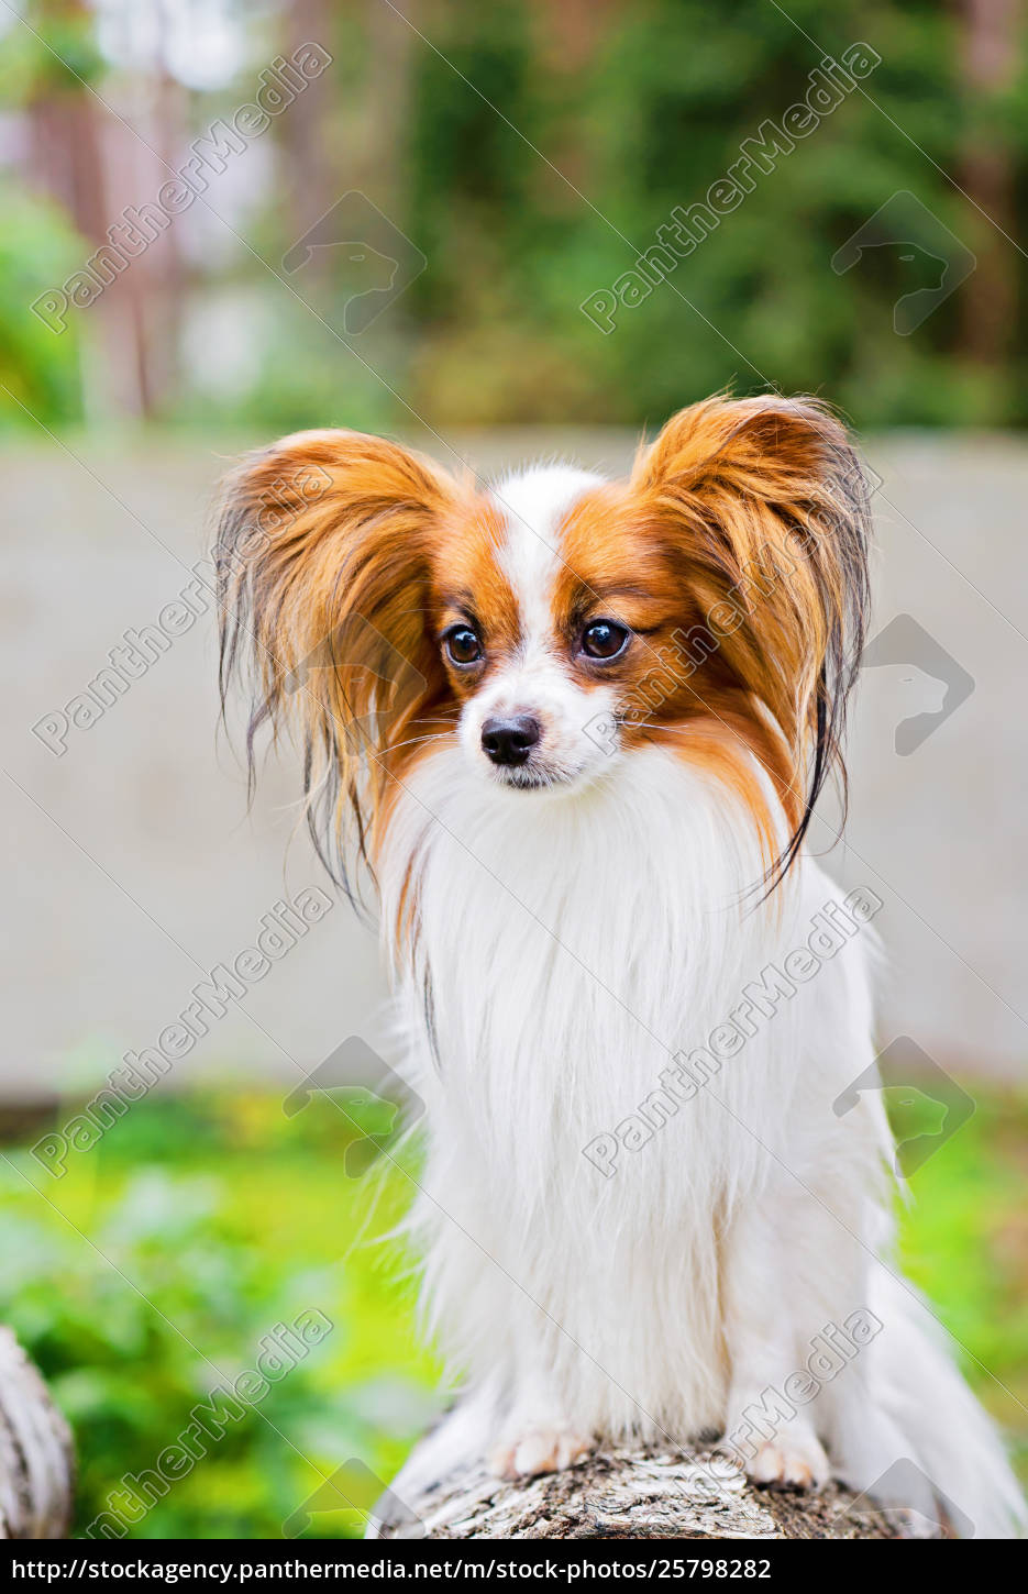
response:
<path id="1" fill-rule="evenodd" d="M 414 1452 L 416 1462 L 416 1452 Z M 818 1495 L 757 1489 L 704 1449 L 593 1455 L 502 1482 L 462 1466 L 416 1497 L 384 1495 L 368 1538 L 942 1538 L 840 1484 Z"/>

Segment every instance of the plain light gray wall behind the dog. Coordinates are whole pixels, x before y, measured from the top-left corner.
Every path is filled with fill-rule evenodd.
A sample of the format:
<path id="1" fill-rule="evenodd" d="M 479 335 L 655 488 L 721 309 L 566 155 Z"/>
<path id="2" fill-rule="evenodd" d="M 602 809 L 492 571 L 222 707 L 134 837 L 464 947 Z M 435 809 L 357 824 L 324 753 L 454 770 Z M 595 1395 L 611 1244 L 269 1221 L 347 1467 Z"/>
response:
<path id="1" fill-rule="evenodd" d="M 622 467 L 633 440 L 547 432 L 457 446 L 488 469 L 537 448 Z M 827 864 L 886 904 L 881 1039 L 907 1033 L 944 1065 L 1014 1073 L 1028 1057 L 1028 448 L 894 437 L 867 453 L 883 477 L 872 630 L 904 614 L 921 630 L 893 626 L 880 650 L 896 641 L 896 662 L 864 671 L 848 843 Z M 247 815 L 239 762 L 215 741 L 210 614 L 96 724 L 72 727 L 61 757 L 30 728 L 186 588 L 223 464 L 182 445 L 0 456 L 6 1097 L 99 1079 L 126 1049 L 153 1044 L 276 901 L 324 885 L 306 837 L 288 846 L 293 764 L 269 762 Z M 974 690 L 915 751 L 897 751 L 897 725 L 942 701 L 947 671 L 956 695 L 964 673 Z M 829 840 L 819 821 L 814 843 Z M 233 1066 L 292 1081 L 351 1031 L 373 1035 L 381 998 L 373 936 L 339 902 L 174 1074 Z"/>

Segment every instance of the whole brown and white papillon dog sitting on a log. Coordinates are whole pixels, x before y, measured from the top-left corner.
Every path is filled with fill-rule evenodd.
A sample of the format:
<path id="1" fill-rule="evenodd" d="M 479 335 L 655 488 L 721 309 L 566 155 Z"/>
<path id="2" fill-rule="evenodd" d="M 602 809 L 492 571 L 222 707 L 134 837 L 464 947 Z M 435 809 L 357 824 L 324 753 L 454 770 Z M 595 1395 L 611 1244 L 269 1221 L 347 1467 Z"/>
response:
<path id="1" fill-rule="evenodd" d="M 320 430 L 226 483 L 223 692 L 252 684 L 250 754 L 298 732 L 426 1103 L 413 1221 L 462 1395 L 421 1481 L 717 1439 L 759 1484 L 1023 1524 L 891 1256 L 881 902 L 803 846 L 867 540 L 843 427 L 776 395 L 682 410 L 626 480 L 486 488 Z"/>

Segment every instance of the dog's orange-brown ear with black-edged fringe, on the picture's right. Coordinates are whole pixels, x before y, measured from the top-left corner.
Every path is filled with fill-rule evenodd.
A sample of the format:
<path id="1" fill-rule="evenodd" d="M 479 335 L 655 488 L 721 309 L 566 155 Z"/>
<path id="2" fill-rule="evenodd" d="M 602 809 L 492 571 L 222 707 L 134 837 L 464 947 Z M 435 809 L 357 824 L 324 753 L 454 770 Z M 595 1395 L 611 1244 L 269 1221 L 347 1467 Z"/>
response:
<path id="1" fill-rule="evenodd" d="M 802 795 L 787 867 L 829 770 L 842 770 L 869 588 L 861 462 L 814 398 L 717 397 L 668 421 L 631 486 L 647 520 L 676 528 L 708 612 L 727 595 L 741 606 L 727 662 L 778 724 Z"/>

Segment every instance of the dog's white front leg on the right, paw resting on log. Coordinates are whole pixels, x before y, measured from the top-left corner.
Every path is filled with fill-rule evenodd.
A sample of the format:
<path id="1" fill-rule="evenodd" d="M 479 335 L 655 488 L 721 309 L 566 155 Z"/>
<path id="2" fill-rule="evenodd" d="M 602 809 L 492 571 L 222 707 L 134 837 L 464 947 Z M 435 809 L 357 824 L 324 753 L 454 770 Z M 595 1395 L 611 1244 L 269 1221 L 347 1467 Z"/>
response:
<path id="1" fill-rule="evenodd" d="M 802 1192 L 800 1192 L 802 1196 Z M 743 1213 L 732 1229 L 725 1269 L 725 1344 L 732 1364 L 728 1415 L 722 1447 L 755 1484 L 778 1489 L 821 1489 L 830 1466 L 813 1423 L 811 1408 L 787 1393 L 802 1372 L 800 1347 L 806 1321 L 802 1269 L 791 1253 L 808 1243 L 816 1258 L 818 1235 L 805 1235 L 795 1197 L 763 1211 Z M 783 1210 L 784 1208 L 784 1210 Z M 808 1224 L 810 1226 L 810 1224 Z M 819 1224 L 813 1223 L 814 1231 Z M 789 1240 L 783 1240 L 783 1234 Z M 816 1309 L 810 1309 L 814 1321 Z"/>

